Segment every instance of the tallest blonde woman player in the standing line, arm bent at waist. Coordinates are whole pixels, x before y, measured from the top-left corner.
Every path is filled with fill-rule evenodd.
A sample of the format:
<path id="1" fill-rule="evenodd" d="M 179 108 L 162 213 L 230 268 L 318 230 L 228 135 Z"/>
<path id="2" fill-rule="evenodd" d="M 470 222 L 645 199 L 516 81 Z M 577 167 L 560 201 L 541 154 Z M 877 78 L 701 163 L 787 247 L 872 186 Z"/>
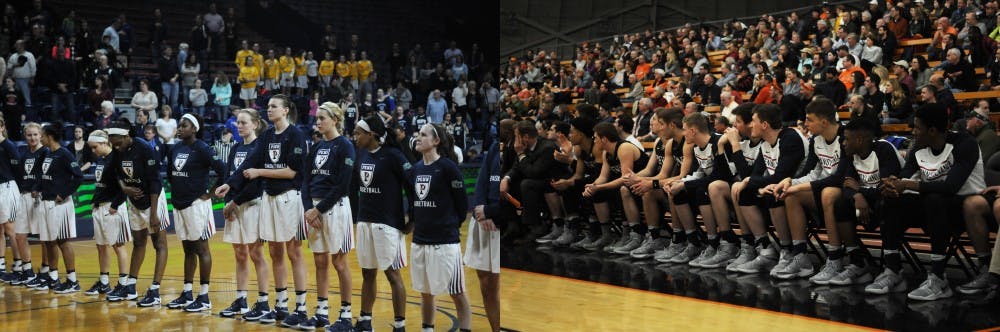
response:
<path id="1" fill-rule="evenodd" d="M 257 178 L 262 181 L 260 238 L 268 241 L 277 299 L 274 311 L 259 321 L 270 324 L 289 316 L 286 252 L 292 264 L 296 310 L 305 310 L 306 305 L 306 269 L 302 261 L 302 240 L 306 230 L 298 189 L 302 188 L 306 136 L 290 122 L 296 117 L 295 105 L 286 95 L 271 97 L 267 102 L 267 117 L 274 126 L 264 131 L 257 148 L 225 184 L 216 188 L 215 194 L 224 196 L 231 188 L 239 188 L 245 182 Z"/>

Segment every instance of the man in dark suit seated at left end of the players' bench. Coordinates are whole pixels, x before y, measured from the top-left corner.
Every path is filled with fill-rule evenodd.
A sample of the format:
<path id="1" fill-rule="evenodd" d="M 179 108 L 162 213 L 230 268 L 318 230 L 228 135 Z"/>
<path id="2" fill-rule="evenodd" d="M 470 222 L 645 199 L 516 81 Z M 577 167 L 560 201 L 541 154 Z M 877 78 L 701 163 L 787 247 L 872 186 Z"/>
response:
<path id="1" fill-rule="evenodd" d="M 533 234 L 544 231 L 539 214 L 545 206 L 544 194 L 552 192 L 549 182 L 560 170 L 565 168 L 556 162 L 553 153 L 556 144 L 548 139 L 539 138 L 538 130 L 532 121 L 518 122 L 514 128 L 514 152 L 517 162 L 500 181 L 500 192 L 509 193 L 511 186 L 520 189 L 522 213 L 521 222 L 525 227 L 536 227 Z"/>

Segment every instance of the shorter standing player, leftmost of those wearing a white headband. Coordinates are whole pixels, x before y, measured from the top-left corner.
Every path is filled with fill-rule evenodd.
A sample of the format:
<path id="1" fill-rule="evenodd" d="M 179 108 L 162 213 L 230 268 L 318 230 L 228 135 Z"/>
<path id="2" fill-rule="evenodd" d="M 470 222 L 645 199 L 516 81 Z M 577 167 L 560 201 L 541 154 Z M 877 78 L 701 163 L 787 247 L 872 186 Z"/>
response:
<path id="1" fill-rule="evenodd" d="M 117 167 L 109 166 L 111 143 L 108 133 L 95 130 L 87 137 L 87 145 L 94 151 L 94 197 L 91 198 L 91 217 L 94 221 L 94 242 L 97 243 L 97 262 L 101 269 L 99 279 L 85 293 L 87 295 L 107 294 L 112 291 L 110 257 L 108 246 L 118 260 L 118 283 L 115 290 L 121 291 L 128 281 L 128 252 L 125 243 L 132 241 L 132 226 L 125 206 L 125 193 L 118 186 L 115 176 Z"/>

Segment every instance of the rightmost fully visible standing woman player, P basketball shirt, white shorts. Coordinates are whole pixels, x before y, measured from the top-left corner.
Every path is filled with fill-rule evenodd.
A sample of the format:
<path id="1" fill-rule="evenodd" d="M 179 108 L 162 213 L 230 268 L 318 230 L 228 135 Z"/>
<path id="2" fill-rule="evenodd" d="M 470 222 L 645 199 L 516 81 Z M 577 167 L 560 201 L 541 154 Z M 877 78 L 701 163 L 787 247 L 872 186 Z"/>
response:
<path id="1" fill-rule="evenodd" d="M 610 124 L 609 124 L 610 125 Z M 470 331 L 471 312 L 465 296 L 465 271 L 459 228 L 465 221 L 468 200 L 462 173 L 455 164 L 451 137 L 444 126 L 426 124 L 417 135 L 423 158 L 413 166 L 413 290 L 420 292 L 424 331 L 434 330 L 434 297 L 448 293 L 455 302 L 458 327 Z"/>

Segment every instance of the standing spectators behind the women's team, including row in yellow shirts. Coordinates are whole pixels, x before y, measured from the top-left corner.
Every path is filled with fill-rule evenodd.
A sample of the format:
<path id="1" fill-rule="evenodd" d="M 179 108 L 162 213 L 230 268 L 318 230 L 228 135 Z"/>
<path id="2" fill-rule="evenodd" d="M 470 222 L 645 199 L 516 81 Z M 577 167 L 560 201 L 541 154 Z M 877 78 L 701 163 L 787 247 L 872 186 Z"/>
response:
<path id="1" fill-rule="evenodd" d="M 446 124 L 457 145 L 470 148 L 463 157 L 478 155 L 478 146 L 489 139 L 499 93 L 488 83 L 494 78 L 484 71 L 485 57 L 476 44 L 463 49 L 454 41 L 447 47 L 415 43 L 407 50 L 398 42 L 353 34 L 338 47 L 327 26 L 312 49 L 280 41 L 265 48 L 266 40 L 240 36 L 237 26 L 244 18 L 232 7 L 221 12 L 211 3 L 206 9 L 181 40 L 169 36 L 171 29 L 183 28 L 169 26 L 161 9 L 153 10 L 140 18 L 150 20 L 145 44 L 136 40 L 125 14 L 88 23 L 72 8 L 56 11 L 41 0 L 24 10 L 7 4 L 0 21 L 0 77 L 10 137 L 22 139 L 21 123 L 51 121 L 83 127 L 86 137 L 126 117 L 140 121 L 139 132 L 152 129 L 148 138 L 156 144 L 169 144 L 177 119 L 193 112 L 213 124 L 205 139 L 238 141 L 232 111 L 263 111 L 270 96 L 282 93 L 292 96 L 300 110 L 297 123 L 310 132 L 318 106 L 333 101 L 347 110 L 349 120 L 378 114 L 408 137 L 424 123 Z M 391 54 L 364 47 L 374 43 L 392 44 Z M 135 56 L 147 51 L 151 63 Z M 227 61 L 220 65 L 221 60 Z"/>

